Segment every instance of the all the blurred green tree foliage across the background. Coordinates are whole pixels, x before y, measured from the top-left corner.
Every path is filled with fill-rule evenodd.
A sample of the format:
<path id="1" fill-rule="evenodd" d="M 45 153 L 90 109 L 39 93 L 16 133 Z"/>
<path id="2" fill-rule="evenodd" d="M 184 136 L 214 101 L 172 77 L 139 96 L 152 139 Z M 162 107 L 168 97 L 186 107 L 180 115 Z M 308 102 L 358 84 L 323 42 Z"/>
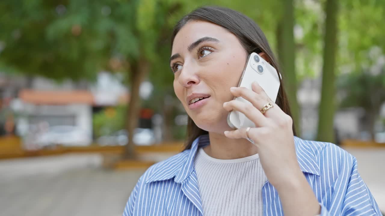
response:
<path id="1" fill-rule="evenodd" d="M 290 61 L 295 61 L 295 70 L 290 73 L 296 79 L 290 79 L 292 82 L 300 83 L 303 78 L 321 73 L 325 2 L 293 1 L 294 38 L 283 40 L 294 40 L 291 52 L 296 57 Z M 337 78 L 341 72 L 362 73 L 357 68 L 370 65 L 367 55 L 373 45 L 385 50 L 385 2 L 341 0 L 338 3 Z M 162 112 L 167 109 L 162 98 L 174 96 L 173 74 L 168 65 L 172 27 L 183 15 L 203 5 L 219 5 L 244 13 L 258 23 L 275 53 L 281 51 L 276 30 L 285 21 L 282 0 L 3 0 L 0 1 L 0 70 L 55 80 L 92 80 L 98 71 L 107 70 L 124 73 L 131 87 L 145 79 L 148 72 L 154 85 L 152 105 L 159 104 L 154 107 Z M 141 68 L 141 63 L 149 67 Z M 143 77 L 132 76 L 143 73 L 138 72 L 142 69 L 148 70 Z M 137 94 L 135 89 L 131 90 Z M 292 88 L 288 94 L 295 95 L 295 91 Z M 137 113 L 136 108 L 128 111 L 132 112 L 131 116 Z M 332 128 L 328 124 L 326 128 Z"/>

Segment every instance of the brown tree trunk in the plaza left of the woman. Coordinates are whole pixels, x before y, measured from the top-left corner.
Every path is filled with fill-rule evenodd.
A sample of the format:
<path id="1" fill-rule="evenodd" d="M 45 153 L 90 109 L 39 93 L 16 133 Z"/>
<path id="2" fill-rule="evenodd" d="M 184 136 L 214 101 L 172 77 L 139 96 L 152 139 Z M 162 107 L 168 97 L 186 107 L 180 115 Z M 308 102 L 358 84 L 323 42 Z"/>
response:
<path id="1" fill-rule="evenodd" d="M 140 111 L 140 96 L 139 86 L 144 78 L 149 73 L 149 63 L 145 58 L 140 58 L 131 65 L 131 91 L 130 100 L 128 102 L 127 117 L 126 117 L 126 130 L 128 132 L 128 143 L 124 148 L 123 158 L 136 159 L 135 152 L 134 130 L 139 123 L 139 111 Z"/>

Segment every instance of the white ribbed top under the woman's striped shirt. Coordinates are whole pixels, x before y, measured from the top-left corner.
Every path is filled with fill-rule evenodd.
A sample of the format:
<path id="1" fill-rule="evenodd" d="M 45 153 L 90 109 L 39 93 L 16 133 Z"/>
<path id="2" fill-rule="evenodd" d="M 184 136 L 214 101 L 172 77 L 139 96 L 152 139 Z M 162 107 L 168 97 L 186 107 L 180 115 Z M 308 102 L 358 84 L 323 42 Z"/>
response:
<path id="1" fill-rule="evenodd" d="M 194 166 L 205 216 L 262 215 L 262 186 L 267 177 L 258 154 L 223 160 L 200 148 Z"/>

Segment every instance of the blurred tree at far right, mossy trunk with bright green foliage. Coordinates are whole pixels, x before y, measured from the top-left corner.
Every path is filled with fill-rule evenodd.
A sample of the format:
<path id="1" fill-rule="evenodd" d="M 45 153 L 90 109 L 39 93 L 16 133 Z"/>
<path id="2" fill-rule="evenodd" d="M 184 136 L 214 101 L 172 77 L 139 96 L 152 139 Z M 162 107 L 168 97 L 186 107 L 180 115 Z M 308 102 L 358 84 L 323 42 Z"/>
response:
<path id="1" fill-rule="evenodd" d="M 385 50 L 385 26 L 382 24 L 385 2 L 343 0 L 328 5 L 327 0 L 317 140 L 333 142 L 333 116 L 337 108 L 335 80 L 341 71 L 351 73 L 370 64 L 367 51 L 373 46 Z"/>

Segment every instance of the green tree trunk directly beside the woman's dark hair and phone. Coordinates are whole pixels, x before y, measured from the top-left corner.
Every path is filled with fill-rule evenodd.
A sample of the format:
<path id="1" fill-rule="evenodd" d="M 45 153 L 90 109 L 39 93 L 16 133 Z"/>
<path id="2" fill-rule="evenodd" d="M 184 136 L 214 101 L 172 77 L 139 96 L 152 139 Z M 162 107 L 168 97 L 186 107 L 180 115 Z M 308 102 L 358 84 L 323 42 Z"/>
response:
<path id="1" fill-rule="evenodd" d="M 278 58 L 285 77 L 285 90 L 289 99 L 293 124 L 297 136 L 300 136 L 300 107 L 297 100 L 297 78 L 295 73 L 295 42 L 294 42 L 294 6 L 293 0 L 283 0 L 285 8 L 283 16 L 277 26 Z"/>

